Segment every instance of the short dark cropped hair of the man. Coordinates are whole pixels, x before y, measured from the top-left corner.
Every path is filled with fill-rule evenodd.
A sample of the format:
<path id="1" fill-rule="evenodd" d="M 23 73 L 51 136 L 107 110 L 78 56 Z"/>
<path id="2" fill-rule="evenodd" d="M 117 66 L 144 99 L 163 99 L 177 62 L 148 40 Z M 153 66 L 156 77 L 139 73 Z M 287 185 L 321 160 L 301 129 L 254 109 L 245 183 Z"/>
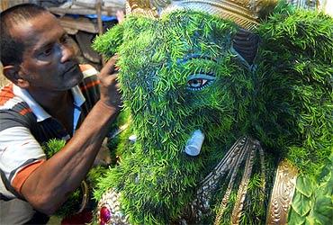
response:
<path id="1" fill-rule="evenodd" d="M 0 60 L 4 66 L 20 64 L 23 61 L 25 46 L 22 40 L 11 35 L 12 27 L 46 12 L 47 9 L 37 4 L 17 4 L 0 14 Z"/>

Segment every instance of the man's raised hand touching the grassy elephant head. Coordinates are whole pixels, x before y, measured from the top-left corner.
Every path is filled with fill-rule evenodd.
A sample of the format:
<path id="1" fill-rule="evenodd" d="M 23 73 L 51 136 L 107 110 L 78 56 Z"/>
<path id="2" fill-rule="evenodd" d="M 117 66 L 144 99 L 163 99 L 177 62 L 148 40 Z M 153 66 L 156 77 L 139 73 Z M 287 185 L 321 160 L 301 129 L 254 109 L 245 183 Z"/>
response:
<path id="1" fill-rule="evenodd" d="M 102 68 L 98 78 L 101 81 L 101 101 L 107 106 L 119 109 L 121 106 L 121 95 L 119 94 L 119 84 L 117 82 L 118 70 L 115 63 L 118 57 L 113 56 Z"/>

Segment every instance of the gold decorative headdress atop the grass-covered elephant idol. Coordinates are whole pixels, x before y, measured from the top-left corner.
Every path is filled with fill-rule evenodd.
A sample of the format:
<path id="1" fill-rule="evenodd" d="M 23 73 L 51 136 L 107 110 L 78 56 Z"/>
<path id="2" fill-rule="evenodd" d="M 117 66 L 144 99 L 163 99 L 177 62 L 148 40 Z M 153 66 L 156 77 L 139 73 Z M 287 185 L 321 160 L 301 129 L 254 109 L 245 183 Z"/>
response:
<path id="1" fill-rule="evenodd" d="M 127 14 L 158 17 L 177 9 L 192 9 L 218 15 L 252 30 L 276 3 L 277 0 L 128 0 L 126 11 Z"/>

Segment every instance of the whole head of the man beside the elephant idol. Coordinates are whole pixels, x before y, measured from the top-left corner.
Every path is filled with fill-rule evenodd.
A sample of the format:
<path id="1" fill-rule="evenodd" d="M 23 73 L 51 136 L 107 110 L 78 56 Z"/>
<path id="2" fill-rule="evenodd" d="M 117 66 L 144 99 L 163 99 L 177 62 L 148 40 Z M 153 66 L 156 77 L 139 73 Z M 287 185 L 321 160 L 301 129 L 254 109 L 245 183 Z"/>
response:
<path id="1" fill-rule="evenodd" d="M 35 4 L 1 14 L 4 76 L 23 88 L 67 90 L 82 79 L 74 49 L 55 16 Z"/>

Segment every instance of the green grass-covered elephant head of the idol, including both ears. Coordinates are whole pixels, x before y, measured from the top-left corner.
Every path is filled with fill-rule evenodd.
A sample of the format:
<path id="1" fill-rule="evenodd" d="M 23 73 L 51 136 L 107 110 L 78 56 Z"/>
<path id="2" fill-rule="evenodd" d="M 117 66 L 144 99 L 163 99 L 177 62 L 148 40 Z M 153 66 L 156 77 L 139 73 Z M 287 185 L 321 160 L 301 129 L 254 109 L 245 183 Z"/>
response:
<path id="1" fill-rule="evenodd" d="M 97 39 L 95 49 L 119 54 L 129 124 L 118 146 L 121 163 L 96 192 L 113 198 L 106 220 L 264 223 L 283 158 L 304 184 L 293 193 L 320 185 L 332 149 L 329 24 L 329 16 L 286 4 L 251 31 L 183 9 L 159 18 L 130 15 Z M 235 153 L 238 144 L 253 148 Z M 200 201 L 219 165 L 223 173 Z M 314 178 L 304 178 L 305 171 Z M 296 212 L 288 220 L 303 218 Z"/>

